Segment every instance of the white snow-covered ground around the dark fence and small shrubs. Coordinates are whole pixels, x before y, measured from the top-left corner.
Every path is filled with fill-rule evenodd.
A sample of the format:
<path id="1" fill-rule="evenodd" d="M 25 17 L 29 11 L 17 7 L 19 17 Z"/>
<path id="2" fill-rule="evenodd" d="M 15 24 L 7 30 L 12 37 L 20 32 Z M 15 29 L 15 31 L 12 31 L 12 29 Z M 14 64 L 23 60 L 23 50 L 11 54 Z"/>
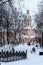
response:
<path id="1" fill-rule="evenodd" d="M 0 62 L 1 65 L 43 65 L 43 56 L 39 55 L 39 51 L 42 51 L 42 49 L 40 48 L 40 46 L 38 46 L 38 48 L 35 47 L 35 45 L 36 44 L 28 46 L 27 44 L 20 44 L 14 46 L 14 49 L 18 51 L 27 50 L 27 59 L 12 62 Z M 5 47 L 7 48 L 7 46 Z M 33 47 L 35 47 L 36 52 L 31 53 Z"/>

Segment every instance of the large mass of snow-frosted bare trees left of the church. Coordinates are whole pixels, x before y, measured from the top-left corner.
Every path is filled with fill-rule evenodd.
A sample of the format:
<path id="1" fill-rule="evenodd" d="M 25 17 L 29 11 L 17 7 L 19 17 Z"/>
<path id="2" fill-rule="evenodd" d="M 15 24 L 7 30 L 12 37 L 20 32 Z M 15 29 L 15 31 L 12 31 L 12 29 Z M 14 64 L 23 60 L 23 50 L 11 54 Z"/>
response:
<path id="1" fill-rule="evenodd" d="M 9 33 L 14 31 L 14 43 L 17 42 L 17 33 L 19 34 L 19 43 L 20 43 L 20 29 L 23 28 L 23 20 L 20 18 L 23 18 L 22 16 L 19 17 L 19 11 L 17 11 L 17 8 L 13 6 L 12 3 L 13 0 L 1 0 L 0 4 L 0 25 L 2 26 L 2 29 L 4 30 L 4 33 L 7 33 L 7 43 L 9 44 Z M 22 14 L 23 15 L 23 14 Z M 19 17 L 19 18 L 18 18 Z M 3 43 L 5 42 L 4 34 L 3 34 Z"/>

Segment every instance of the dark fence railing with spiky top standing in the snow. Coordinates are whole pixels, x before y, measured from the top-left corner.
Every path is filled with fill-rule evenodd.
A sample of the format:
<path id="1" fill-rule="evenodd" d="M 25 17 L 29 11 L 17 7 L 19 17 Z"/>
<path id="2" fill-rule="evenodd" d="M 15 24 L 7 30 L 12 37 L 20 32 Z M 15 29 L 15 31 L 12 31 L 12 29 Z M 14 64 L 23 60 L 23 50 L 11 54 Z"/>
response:
<path id="1" fill-rule="evenodd" d="M 0 62 L 10 62 L 17 61 L 27 58 L 27 50 L 24 51 L 10 51 L 10 52 L 0 52 Z"/>

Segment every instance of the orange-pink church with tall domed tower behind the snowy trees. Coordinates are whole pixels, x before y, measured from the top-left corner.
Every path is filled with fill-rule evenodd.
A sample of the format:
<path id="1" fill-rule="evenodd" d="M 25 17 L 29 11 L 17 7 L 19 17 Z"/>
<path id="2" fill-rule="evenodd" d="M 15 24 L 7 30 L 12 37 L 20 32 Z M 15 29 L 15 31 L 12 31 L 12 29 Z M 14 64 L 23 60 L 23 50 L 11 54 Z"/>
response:
<path id="1" fill-rule="evenodd" d="M 32 18 L 29 14 L 29 10 L 26 11 L 26 15 L 25 15 L 25 20 L 24 20 L 24 28 L 21 31 L 21 39 L 23 43 L 28 43 L 31 41 L 37 41 L 38 42 L 38 37 L 36 36 L 37 34 L 40 34 L 39 31 L 37 29 L 33 29 L 31 26 L 32 23 Z"/>

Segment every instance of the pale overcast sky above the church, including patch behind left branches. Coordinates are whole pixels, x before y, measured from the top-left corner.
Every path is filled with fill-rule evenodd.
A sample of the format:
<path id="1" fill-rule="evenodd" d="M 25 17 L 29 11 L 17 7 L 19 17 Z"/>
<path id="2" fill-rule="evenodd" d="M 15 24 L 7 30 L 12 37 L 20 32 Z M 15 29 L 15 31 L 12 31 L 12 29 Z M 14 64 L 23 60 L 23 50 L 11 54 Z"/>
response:
<path id="1" fill-rule="evenodd" d="M 14 0 L 15 1 L 15 0 Z M 20 1 L 20 2 L 18 2 Z M 22 2 L 24 1 L 24 2 Z M 30 15 L 32 17 L 32 25 L 35 25 L 34 23 L 34 14 L 38 12 L 37 4 L 41 0 L 16 0 L 16 7 L 20 7 L 23 13 L 26 13 L 26 10 L 30 10 Z M 14 2 L 14 3 L 15 3 Z M 18 8 L 19 9 L 19 8 Z"/>

